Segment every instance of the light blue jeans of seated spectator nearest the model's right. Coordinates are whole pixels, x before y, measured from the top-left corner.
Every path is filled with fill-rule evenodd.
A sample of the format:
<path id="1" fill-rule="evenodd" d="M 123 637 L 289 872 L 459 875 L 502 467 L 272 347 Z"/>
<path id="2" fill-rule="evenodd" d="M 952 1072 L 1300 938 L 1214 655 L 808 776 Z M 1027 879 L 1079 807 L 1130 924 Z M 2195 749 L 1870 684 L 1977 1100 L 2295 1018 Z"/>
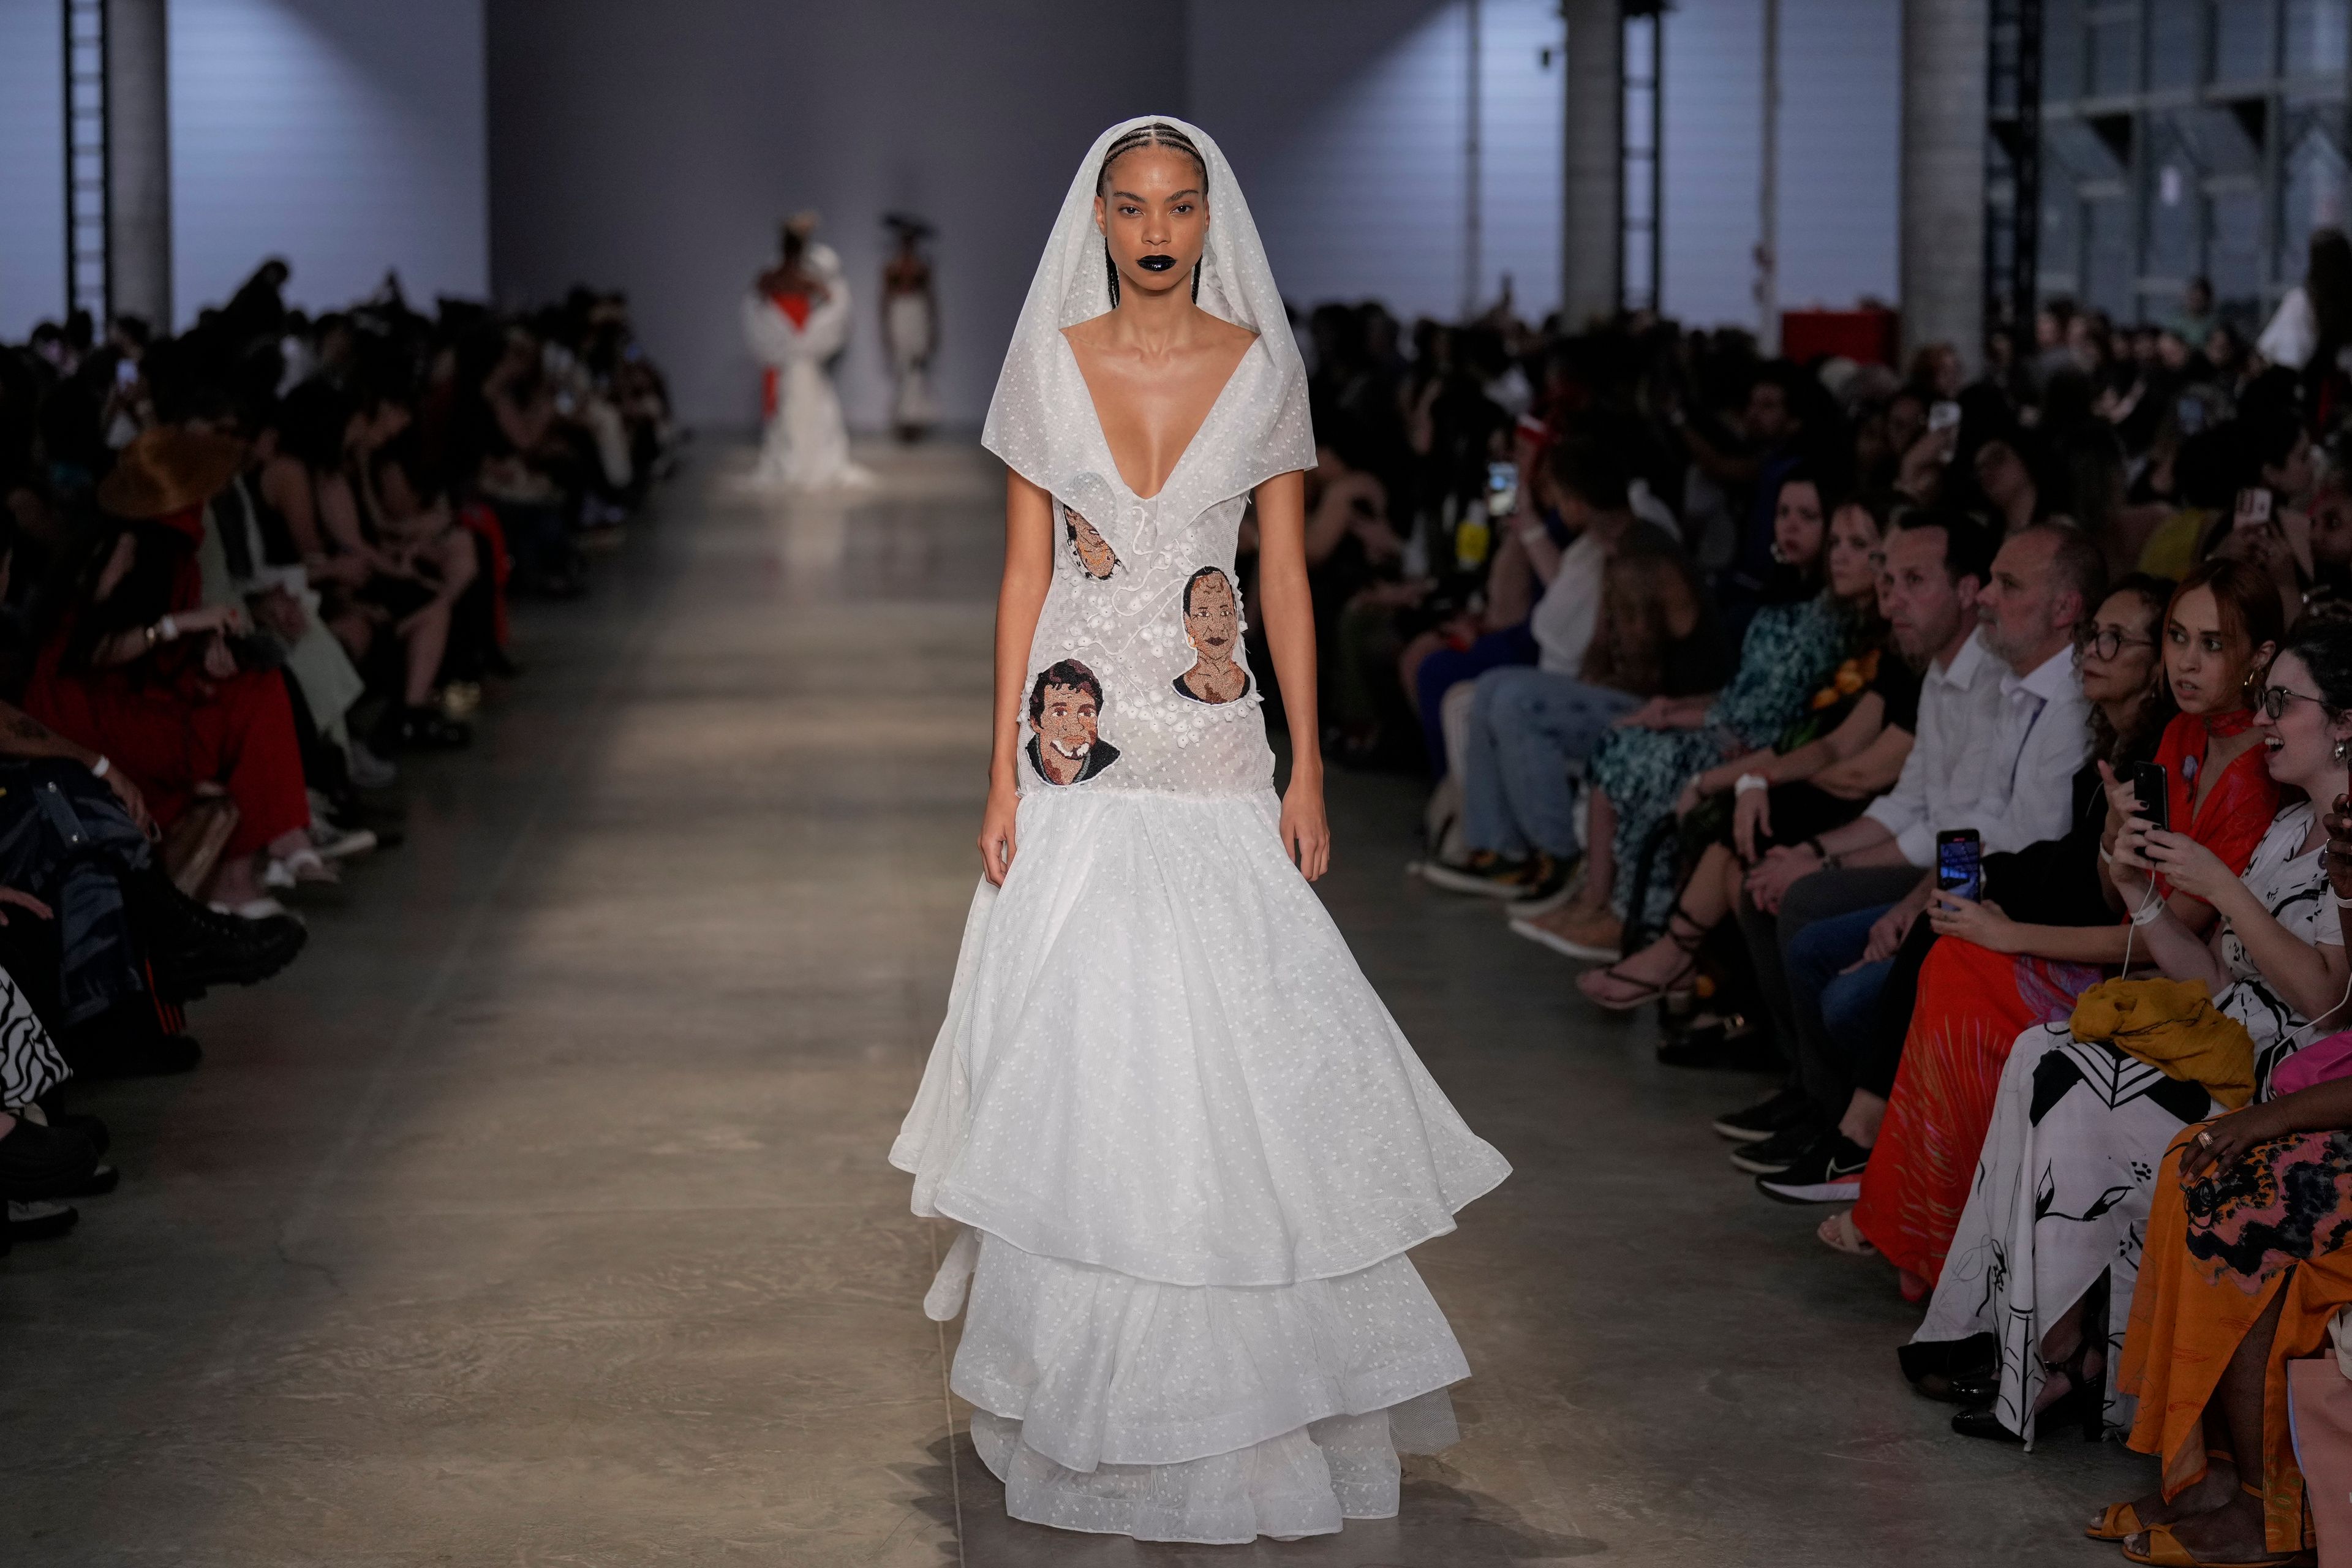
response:
<path id="1" fill-rule="evenodd" d="M 1590 757 L 1609 722 L 1639 705 L 1623 691 L 1526 665 L 1479 675 L 1463 750 L 1463 844 L 1498 856 L 1524 856 L 1529 846 L 1576 856 L 1583 846 L 1569 764 Z"/>

